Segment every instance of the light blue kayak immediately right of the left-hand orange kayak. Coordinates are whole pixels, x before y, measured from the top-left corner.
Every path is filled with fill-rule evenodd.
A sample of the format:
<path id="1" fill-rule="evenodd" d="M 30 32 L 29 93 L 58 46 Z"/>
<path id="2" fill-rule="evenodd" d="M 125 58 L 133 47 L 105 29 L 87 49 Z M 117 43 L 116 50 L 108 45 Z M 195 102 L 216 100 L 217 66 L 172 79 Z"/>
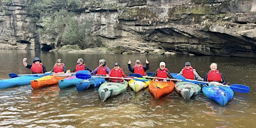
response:
<path id="1" fill-rule="evenodd" d="M 80 82 L 83 79 L 76 78 L 76 76 L 68 76 L 67 78 L 64 78 L 63 80 L 58 81 L 58 87 L 60 89 L 68 88 L 68 87 L 75 87 L 76 82 Z"/>

